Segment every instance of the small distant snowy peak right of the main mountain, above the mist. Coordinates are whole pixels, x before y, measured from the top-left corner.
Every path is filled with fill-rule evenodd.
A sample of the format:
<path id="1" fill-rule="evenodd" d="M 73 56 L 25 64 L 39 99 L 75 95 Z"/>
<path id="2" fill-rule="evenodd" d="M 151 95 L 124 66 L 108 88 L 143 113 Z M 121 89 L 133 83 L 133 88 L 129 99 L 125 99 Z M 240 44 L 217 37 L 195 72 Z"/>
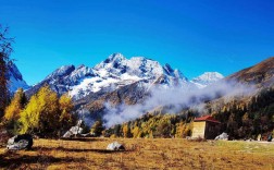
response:
<path id="1" fill-rule="evenodd" d="M 198 88 L 203 88 L 210 84 L 213 84 L 224 78 L 221 73 L 217 72 L 204 72 L 202 75 L 192 78 L 190 82 L 194 83 Z"/>

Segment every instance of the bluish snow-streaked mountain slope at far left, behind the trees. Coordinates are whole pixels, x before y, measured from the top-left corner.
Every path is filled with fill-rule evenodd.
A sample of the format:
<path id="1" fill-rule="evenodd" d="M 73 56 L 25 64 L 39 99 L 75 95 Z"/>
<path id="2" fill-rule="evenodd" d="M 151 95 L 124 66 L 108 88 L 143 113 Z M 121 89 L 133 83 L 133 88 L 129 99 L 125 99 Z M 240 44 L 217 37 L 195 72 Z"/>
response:
<path id="1" fill-rule="evenodd" d="M 8 87 L 11 93 L 16 92 L 18 88 L 27 89 L 29 86 L 23 80 L 21 72 L 18 71 L 17 66 L 12 62 L 8 62 Z"/>

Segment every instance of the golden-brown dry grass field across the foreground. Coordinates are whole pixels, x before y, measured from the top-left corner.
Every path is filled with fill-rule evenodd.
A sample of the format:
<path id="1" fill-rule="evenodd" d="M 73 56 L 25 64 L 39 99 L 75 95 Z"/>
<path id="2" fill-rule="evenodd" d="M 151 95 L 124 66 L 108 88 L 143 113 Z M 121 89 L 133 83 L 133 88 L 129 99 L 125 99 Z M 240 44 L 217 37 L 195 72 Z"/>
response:
<path id="1" fill-rule="evenodd" d="M 124 151 L 108 151 L 117 141 Z M 182 138 L 35 139 L 32 150 L 0 148 L 0 169 L 274 169 L 274 143 Z"/>

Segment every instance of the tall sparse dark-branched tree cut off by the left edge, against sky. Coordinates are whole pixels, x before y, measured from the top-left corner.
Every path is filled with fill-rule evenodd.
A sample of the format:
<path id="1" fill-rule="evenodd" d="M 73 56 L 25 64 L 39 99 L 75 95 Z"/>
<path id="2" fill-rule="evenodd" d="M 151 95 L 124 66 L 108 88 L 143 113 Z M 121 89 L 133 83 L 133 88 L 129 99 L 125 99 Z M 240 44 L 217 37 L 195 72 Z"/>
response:
<path id="1" fill-rule="evenodd" d="M 8 80 L 7 80 L 7 62 L 12 52 L 12 38 L 7 37 L 8 27 L 0 24 L 0 118 L 3 116 L 8 101 Z"/>

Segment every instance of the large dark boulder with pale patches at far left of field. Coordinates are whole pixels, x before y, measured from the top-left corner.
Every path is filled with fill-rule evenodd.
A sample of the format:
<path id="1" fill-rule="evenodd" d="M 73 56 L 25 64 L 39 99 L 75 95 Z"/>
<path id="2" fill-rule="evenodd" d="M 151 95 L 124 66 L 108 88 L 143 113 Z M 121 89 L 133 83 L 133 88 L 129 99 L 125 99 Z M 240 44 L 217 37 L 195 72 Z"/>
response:
<path id="1" fill-rule="evenodd" d="M 29 134 L 22 134 L 11 137 L 8 141 L 7 148 L 11 150 L 30 149 L 34 144 L 33 136 Z"/>

